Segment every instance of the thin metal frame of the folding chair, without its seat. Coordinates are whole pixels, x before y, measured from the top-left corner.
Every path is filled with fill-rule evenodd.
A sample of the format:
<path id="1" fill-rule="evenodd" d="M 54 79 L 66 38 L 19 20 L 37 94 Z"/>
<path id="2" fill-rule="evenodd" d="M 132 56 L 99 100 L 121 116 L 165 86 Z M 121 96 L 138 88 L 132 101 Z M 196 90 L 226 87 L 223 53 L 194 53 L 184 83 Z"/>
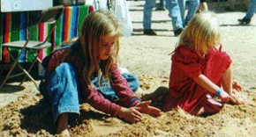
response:
<path id="1" fill-rule="evenodd" d="M 53 25 L 52 25 L 52 27 L 51 27 L 51 30 L 50 30 L 50 32 L 49 32 L 47 38 L 46 38 L 41 44 L 34 45 L 34 47 L 27 47 L 27 45 L 28 45 L 28 43 L 29 43 L 31 37 L 33 36 L 33 33 L 34 33 L 35 29 L 38 28 L 39 24 L 40 24 L 40 23 L 47 23 L 47 22 L 49 22 L 49 19 L 48 19 L 48 20 L 43 20 L 43 19 L 45 18 L 45 16 L 48 15 L 47 13 L 49 13 L 49 11 L 55 11 L 55 10 L 61 10 L 61 11 L 58 11 L 58 13 L 56 13 L 56 15 L 54 16 L 55 22 L 53 23 Z M 34 59 L 34 61 L 32 62 L 31 66 L 30 66 L 27 70 L 26 70 L 25 68 L 23 68 L 23 67 L 19 64 L 18 61 L 19 61 L 19 58 L 20 58 L 21 54 L 22 54 L 25 50 L 27 50 L 27 52 L 29 52 L 30 49 L 41 50 L 41 49 L 46 48 L 46 47 L 41 47 L 41 45 L 43 45 L 43 44 L 45 44 L 45 43 L 47 42 L 47 40 L 49 39 L 49 36 L 50 36 L 51 33 L 53 32 L 53 30 L 55 30 L 56 23 L 59 21 L 59 18 L 62 16 L 63 12 L 64 12 L 64 6 L 63 6 L 63 5 L 50 7 L 50 8 L 48 8 L 48 9 L 45 9 L 45 10 L 41 11 L 40 19 L 39 19 L 39 21 L 36 23 L 36 25 L 34 26 L 33 31 L 30 32 L 30 34 L 29 34 L 29 36 L 28 36 L 28 39 L 26 40 L 25 45 L 24 45 L 22 48 L 21 48 L 21 47 L 15 47 L 15 46 L 14 46 L 14 47 L 11 47 L 11 48 L 21 48 L 21 51 L 19 52 L 19 55 L 17 56 L 16 59 L 11 55 L 11 51 L 9 50 L 9 47 L 10 47 L 10 46 L 8 46 L 8 44 L 10 44 L 10 43 L 7 43 L 6 45 L 3 44 L 3 47 L 7 47 L 7 51 L 9 52 L 9 54 L 10 54 L 10 56 L 11 56 L 11 59 L 12 59 L 14 62 L 13 62 L 13 64 L 11 65 L 11 68 L 10 68 L 8 74 L 5 76 L 3 83 L 0 85 L 0 90 L 1 90 L 1 88 L 4 86 L 4 83 L 6 83 L 6 81 L 7 81 L 8 79 L 13 78 L 13 77 L 16 77 L 16 76 L 21 76 L 21 75 L 24 75 L 24 74 L 25 74 L 26 76 L 28 76 L 28 77 L 33 81 L 34 85 L 35 85 L 36 88 L 39 90 L 39 87 L 37 86 L 37 83 L 35 83 L 34 78 L 33 78 L 32 76 L 30 76 L 30 74 L 29 74 L 30 70 L 33 68 L 34 63 L 35 63 L 36 61 L 40 62 L 40 64 L 41 64 L 41 60 L 38 58 L 38 55 L 39 55 L 39 54 L 33 54 L 35 59 Z M 51 17 L 51 18 L 52 18 L 52 17 Z M 37 42 L 39 42 L 39 41 L 37 41 Z M 11 72 L 12 72 L 12 70 L 15 68 L 16 65 L 18 65 L 18 67 L 19 67 L 23 72 L 11 76 Z M 25 76 L 25 77 L 23 78 L 23 80 L 19 83 L 19 86 L 20 86 L 22 83 L 24 83 L 24 81 L 26 80 L 26 76 Z"/>

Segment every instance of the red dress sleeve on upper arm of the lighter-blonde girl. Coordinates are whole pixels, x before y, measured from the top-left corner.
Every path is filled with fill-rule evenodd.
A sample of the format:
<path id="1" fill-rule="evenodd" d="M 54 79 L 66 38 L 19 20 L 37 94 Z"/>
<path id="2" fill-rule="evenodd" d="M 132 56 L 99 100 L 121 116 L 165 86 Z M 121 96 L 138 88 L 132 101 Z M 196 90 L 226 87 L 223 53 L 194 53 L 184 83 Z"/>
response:
<path id="1" fill-rule="evenodd" d="M 202 65 L 200 56 L 191 50 L 184 47 L 177 49 L 171 58 L 172 63 L 175 63 L 178 68 L 182 69 L 187 76 L 192 78 L 200 76 Z"/>

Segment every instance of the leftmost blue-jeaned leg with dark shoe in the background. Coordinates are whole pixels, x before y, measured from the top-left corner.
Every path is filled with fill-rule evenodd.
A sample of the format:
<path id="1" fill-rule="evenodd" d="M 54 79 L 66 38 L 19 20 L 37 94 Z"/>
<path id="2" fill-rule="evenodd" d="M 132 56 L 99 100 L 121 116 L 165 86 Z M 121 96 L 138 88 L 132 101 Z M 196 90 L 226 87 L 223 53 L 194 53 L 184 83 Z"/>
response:
<path id="1" fill-rule="evenodd" d="M 144 29 L 144 34 L 146 35 L 157 35 L 151 29 L 152 10 L 154 6 L 155 6 L 155 0 L 146 0 L 144 5 L 144 11 L 143 11 L 143 29 Z"/>

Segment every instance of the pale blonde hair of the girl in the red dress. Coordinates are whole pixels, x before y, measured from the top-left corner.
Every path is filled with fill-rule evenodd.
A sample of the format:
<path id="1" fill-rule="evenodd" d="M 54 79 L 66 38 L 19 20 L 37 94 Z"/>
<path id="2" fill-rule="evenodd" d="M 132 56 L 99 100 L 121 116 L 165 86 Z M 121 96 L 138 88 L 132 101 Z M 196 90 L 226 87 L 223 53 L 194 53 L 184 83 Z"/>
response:
<path id="1" fill-rule="evenodd" d="M 181 34 L 177 46 L 183 44 L 195 49 L 200 55 L 207 49 L 215 48 L 221 40 L 219 24 L 212 11 L 203 11 L 193 16 L 187 28 Z"/>

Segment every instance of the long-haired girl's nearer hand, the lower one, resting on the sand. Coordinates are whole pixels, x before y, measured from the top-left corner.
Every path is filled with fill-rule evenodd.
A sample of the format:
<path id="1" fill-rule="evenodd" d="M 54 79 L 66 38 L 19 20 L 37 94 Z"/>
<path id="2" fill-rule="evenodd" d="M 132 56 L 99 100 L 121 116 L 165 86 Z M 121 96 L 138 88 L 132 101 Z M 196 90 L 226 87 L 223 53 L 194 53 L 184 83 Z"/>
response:
<path id="1" fill-rule="evenodd" d="M 125 119 L 130 123 L 136 123 L 142 120 L 142 114 L 138 112 L 134 107 L 121 107 L 120 112 L 118 112 L 117 116 L 121 119 Z"/>

